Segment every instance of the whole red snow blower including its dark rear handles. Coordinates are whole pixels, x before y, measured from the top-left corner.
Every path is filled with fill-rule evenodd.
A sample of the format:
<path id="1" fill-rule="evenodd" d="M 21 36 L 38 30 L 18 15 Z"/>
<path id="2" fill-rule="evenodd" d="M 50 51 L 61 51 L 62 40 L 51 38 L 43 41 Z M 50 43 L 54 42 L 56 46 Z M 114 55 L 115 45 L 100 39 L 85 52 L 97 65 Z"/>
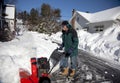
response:
<path id="1" fill-rule="evenodd" d="M 61 58 L 64 57 L 63 52 L 55 49 L 51 54 L 49 60 L 46 57 L 31 58 L 31 73 L 24 69 L 20 69 L 20 83 L 51 83 L 50 73 L 53 68 L 59 63 Z M 51 60 L 53 67 L 50 69 Z"/>

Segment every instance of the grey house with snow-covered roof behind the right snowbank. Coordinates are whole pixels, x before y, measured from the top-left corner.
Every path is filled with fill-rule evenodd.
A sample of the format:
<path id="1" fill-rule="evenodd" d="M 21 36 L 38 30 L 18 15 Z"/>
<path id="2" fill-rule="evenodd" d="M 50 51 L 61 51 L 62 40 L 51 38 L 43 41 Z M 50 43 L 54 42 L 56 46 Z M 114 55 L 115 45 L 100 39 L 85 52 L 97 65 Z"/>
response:
<path id="1" fill-rule="evenodd" d="M 75 29 L 91 33 L 104 31 L 113 24 L 120 24 L 120 6 L 96 13 L 74 11 L 70 23 Z"/>

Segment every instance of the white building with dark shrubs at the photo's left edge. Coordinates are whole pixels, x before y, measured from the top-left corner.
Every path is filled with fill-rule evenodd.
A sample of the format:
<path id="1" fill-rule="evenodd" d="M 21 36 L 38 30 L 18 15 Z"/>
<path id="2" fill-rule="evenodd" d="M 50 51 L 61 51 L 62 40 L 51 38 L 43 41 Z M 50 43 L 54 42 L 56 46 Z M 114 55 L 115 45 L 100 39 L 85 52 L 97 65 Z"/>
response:
<path id="1" fill-rule="evenodd" d="M 15 37 L 16 8 L 0 0 L 0 41 L 9 41 Z"/>

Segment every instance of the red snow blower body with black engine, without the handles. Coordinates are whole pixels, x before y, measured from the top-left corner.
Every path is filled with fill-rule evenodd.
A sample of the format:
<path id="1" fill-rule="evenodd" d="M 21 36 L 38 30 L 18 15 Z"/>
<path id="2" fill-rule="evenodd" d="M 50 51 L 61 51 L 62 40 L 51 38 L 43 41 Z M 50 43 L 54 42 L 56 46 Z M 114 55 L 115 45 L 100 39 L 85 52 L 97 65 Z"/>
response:
<path id="1" fill-rule="evenodd" d="M 50 64 L 46 57 L 31 58 L 31 75 L 20 69 L 20 83 L 51 83 L 49 78 Z"/>

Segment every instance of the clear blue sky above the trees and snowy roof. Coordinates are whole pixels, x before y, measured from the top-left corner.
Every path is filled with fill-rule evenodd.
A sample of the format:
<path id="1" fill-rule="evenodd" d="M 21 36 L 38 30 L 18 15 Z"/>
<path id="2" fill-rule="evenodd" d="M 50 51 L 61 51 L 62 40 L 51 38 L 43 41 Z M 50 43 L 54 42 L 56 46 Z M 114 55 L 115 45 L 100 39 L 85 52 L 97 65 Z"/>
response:
<path id="1" fill-rule="evenodd" d="M 61 9 L 62 19 L 64 20 L 71 18 L 72 9 L 93 13 L 120 6 L 120 0 L 18 0 L 17 8 L 18 11 L 27 10 L 29 12 L 31 8 L 40 8 L 43 3 Z"/>

